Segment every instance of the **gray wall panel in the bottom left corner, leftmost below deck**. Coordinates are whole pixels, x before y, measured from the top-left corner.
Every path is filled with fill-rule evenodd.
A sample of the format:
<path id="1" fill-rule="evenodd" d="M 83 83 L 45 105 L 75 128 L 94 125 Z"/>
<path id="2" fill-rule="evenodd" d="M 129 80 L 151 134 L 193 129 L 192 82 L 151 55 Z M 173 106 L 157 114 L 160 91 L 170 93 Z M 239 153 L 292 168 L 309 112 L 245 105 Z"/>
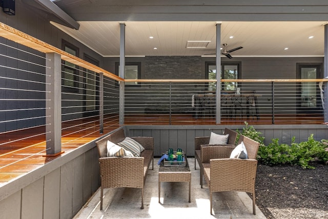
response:
<path id="1" fill-rule="evenodd" d="M 22 190 L 10 195 L 5 200 L 0 201 L 0 217 L 1 218 L 20 218 L 20 203 L 22 198 Z"/>

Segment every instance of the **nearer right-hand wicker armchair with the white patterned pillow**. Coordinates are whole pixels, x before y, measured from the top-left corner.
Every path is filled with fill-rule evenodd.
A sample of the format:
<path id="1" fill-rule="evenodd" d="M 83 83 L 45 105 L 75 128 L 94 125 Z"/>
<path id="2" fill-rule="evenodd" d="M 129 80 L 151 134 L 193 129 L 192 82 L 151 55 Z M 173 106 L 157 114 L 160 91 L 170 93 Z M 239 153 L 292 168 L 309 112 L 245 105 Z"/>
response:
<path id="1" fill-rule="evenodd" d="M 201 147 L 201 162 L 209 162 L 202 163 L 202 172 L 210 190 L 211 214 L 213 192 L 242 191 L 253 194 L 253 214 L 255 215 L 256 156 L 259 143 L 243 135 L 239 136 L 238 144 L 241 142 L 244 143 L 248 152 L 248 159 L 228 158 L 233 150 L 232 147 Z"/>

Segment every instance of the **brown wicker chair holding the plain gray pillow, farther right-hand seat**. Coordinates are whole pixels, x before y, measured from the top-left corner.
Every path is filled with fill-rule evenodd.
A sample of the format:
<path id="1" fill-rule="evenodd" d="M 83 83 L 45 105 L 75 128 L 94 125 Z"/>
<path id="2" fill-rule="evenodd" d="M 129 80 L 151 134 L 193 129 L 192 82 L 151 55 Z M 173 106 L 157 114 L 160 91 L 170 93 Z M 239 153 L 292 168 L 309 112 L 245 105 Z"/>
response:
<path id="1" fill-rule="evenodd" d="M 229 134 L 228 138 L 228 144 L 226 146 L 233 146 L 235 147 L 236 138 L 237 138 L 237 132 L 225 128 L 223 134 Z M 218 146 L 218 145 L 209 145 L 210 143 L 210 136 L 203 136 L 203 137 L 195 137 L 195 169 L 196 169 L 196 161 L 198 162 L 198 165 L 200 167 L 199 175 L 202 176 L 202 167 L 200 162 L 200 147 L 201 146 Z M 202 184 L 200 182 L 200 184 Z"/>

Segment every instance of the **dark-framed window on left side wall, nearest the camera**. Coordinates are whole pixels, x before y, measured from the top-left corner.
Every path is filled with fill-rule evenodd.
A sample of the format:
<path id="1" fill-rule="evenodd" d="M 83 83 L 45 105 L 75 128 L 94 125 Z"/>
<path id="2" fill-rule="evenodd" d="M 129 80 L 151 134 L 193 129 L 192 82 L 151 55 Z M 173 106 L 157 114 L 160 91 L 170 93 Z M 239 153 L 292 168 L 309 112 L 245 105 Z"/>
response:
<path id="1" fill-rule="evenodd" d="M 78 57 L 78 48 L 63 40 L 63 50 Z M 63 61 L 61 73 L 61 85 L 65 92 L 78 92 L 77 66 L 73 63 Z"/>

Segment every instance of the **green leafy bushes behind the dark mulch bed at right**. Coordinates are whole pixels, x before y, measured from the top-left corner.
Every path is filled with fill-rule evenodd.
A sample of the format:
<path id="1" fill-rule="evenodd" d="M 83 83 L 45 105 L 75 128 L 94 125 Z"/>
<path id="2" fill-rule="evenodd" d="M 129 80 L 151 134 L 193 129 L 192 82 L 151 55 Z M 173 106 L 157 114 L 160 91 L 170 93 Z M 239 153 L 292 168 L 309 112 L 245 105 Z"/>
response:
<path id="1" fill-rule="evenodd" d="M 279 144 L 279 139 L 274 138 L 268 146 L 265 146 L 262 133 L 246 122 L 245 125 L 242 131 L 237 130 L 237 132 L 260 143 L 257 159 L 264 165 L 289 164 L 313 169 L 314 167 L 311 166 L 313 162 L 328 163 L 328 151 L 325 150 L 328 147 L 328 140 L 316 141 L 311 134 L 306 142 L 295 143 L 295 137 L 293 137 L 291 145 L 287 145 Z"/>

